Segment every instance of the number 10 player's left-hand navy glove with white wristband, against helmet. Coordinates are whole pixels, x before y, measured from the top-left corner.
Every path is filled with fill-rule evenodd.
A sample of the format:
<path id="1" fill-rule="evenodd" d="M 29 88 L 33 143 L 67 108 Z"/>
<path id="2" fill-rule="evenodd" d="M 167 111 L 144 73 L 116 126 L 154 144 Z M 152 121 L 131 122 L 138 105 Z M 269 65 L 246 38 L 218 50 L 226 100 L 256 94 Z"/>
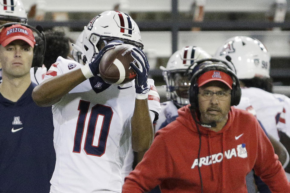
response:
<path id="1" fill-rule="evenodd" d="M 101 59 L 106 51 L 109 49 L 114 48 L 117 45 L 124 44 L 121 40 L 114 40 L 109 42 L 103 49 L 100 50 L 100 52 L 97 54 L 95 59 L 89 63 L 89 65 L 85 65 L 81 68 L 82 73 L 84 74 L 85 78 L 91 78 L 93 76 L 96 76 L 99 74 L 99 64 L 101 62 Z"/>

